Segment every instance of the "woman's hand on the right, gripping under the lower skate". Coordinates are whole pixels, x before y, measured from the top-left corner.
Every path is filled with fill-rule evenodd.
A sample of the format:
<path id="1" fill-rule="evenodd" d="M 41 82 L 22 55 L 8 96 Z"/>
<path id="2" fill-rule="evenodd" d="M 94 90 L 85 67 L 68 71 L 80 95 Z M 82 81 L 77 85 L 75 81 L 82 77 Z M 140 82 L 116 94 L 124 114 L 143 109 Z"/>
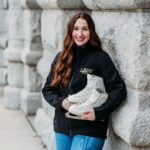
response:
<path id="1" fill-rule="evenodd" d="M 94 121 L 95 118 L 95 112 L 94 109 L 89 109 L 83 112 L 84 115 L 81 116 L 81 119 L 83 120 L 90 120 L 90 121 Z"/>

